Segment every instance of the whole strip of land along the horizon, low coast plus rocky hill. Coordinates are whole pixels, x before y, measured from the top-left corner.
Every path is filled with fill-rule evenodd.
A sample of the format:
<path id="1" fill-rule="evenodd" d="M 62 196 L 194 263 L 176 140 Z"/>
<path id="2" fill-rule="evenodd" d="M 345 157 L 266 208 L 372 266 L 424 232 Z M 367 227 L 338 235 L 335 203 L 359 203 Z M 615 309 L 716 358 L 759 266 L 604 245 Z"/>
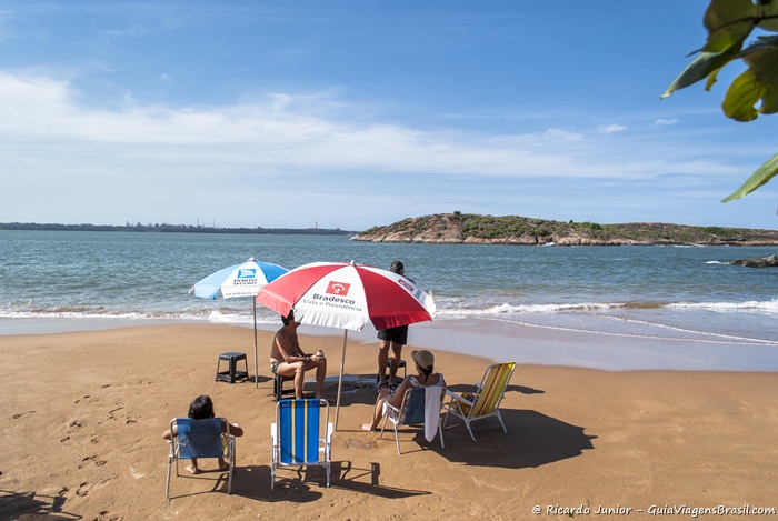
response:
<path id="1" fill-rule="evenodd" d="M 659 222 L 599 224 L 519 216 L 438 213 L 407 218 L 365 231 L 340 228 L 221 228 L 201 224 L 60 224 L 0 222 L 0 230 L 104 231 L 157 233 L 238 233 L 349 236 L 353 241 L 482 243 L 511 246 L 778 246 L 778 230 L 695 227 Z"/>

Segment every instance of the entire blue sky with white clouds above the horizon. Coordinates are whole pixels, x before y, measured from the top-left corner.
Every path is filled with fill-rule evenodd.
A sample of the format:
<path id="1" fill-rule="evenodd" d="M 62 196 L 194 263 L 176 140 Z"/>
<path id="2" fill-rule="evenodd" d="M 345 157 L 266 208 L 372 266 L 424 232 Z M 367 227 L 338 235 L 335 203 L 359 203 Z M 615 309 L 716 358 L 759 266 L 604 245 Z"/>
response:
<path id="1" fill-rule="evenodd" d="M 778 117 L 659 96 L 707 0 L 0 3 L 0 222 L 778 228 Z"/>

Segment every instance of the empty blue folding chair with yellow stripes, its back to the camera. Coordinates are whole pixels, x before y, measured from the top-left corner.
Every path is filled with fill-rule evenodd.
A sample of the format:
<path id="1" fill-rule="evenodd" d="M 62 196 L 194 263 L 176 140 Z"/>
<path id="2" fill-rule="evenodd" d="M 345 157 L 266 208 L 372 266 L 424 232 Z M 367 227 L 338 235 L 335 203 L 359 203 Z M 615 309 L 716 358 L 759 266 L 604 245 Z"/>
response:
<path id="1" fill-rule="evenodd" d="M 278 467 L 321 465 L 330 485 L 332 452 L 332 423 L 327 400 L 279 400 L 276 404 L 276 423 L 270 427 L 272 458 L 270 489 L 276 488 Z"/>

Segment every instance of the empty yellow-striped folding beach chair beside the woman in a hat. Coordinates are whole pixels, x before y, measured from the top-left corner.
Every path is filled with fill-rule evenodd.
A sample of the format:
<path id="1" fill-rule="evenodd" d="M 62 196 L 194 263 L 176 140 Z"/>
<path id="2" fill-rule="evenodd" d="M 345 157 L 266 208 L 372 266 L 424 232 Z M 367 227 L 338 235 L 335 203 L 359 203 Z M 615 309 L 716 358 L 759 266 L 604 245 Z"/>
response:
<path id="1" fill-rule="evenodd" d="M 465 425 L 472 441 L 476 441 L 476 437 L 472 433 L 470 423 L 477 420 L 483 420 L 485 418 L 496 417 L 500 421 L 502 430 L 508 432 L 508 428 L 506 428 L 502 417 L 500 415 L 499 408 L 508 382 L 510 382 L 510 378 L 513 374 L 513 369 L 516 369 L 516 362 L 490 365 L 483 373 L 481 382 L 476 383 L 475 392 L 457 394 L 450 390 L 446 390 L 449 401 L 443 405 L 446 409 L 443 429 L 451 429 L 459 424 L 447 424 L 449 414 L 453 414 L 465 421 Z"/>

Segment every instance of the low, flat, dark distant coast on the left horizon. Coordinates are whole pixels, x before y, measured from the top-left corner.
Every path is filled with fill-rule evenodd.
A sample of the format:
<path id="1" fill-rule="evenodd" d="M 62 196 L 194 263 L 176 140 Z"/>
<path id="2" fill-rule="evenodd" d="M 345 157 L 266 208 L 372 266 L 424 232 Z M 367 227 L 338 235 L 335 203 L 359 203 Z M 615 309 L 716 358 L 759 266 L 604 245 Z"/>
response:
<path id="1" fill-rule="evenodd" d="M 192 224 L 57 224 L 34 222 L 0 222 L 0 230 L 44 230 L 44 231 L 111 231 L 111 232 L 158 232 L 158 233 L 245 233 L 286 236 L 353 236 L 356 231 L 340 228 L 217 228 Z"/>

